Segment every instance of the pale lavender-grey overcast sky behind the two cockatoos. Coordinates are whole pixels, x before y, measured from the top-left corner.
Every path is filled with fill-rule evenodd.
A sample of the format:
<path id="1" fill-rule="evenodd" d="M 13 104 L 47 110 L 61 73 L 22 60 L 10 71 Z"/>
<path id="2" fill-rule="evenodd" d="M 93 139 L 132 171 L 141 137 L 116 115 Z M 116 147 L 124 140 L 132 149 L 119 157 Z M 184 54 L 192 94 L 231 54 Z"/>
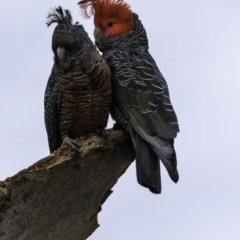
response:
<path id="1" fill-rule="evenodd" d="M 161 195 L 137 184 L 135 163 L 114 187 L 90 240 L 240 239 L 240 1 L 128 0 L 170 89 L 180 133 L 179 183 L 162 167 Z M 49 154 L 43 97 L 52 68 L 50 7 L 0 1 L 0 179 Z M 109 123 L 112 125 L 112 122 Z"/>

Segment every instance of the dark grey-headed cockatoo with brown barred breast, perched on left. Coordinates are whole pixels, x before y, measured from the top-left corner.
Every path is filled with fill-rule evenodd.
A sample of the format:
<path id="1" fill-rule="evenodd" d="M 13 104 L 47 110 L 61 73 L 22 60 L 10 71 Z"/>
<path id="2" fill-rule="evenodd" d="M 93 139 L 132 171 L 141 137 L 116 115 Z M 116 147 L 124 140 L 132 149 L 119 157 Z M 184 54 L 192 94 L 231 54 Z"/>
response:
<path id="1" fill-rule="evenodd" d="M 104 135 L 112 99 L 111 71 L 82 25 L 72 23 L 61 7 L 48 14 L 47 26 L 57 23 L 52 36 L 54 65 L 44 99 L 50 152 L 89 133 Z"/>

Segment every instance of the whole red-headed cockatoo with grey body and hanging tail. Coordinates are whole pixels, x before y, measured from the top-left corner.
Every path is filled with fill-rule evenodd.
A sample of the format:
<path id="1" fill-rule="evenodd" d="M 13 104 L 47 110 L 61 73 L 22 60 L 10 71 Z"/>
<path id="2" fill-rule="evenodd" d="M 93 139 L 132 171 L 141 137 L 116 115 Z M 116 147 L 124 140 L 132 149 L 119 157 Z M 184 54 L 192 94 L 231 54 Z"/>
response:
<path id="1" fill-rule="evenodd" d="M 161 192 L 160 163 L 179 179 L 174 138 L 178 121 L 167 83 L 148 51 L 148 38 L 137 14 L 123 0 L 82 0 L 85 17 L 94 15 L 94 37 L 112 71 L 111 115 L 130 132 L 136 149 L 139 184 Z"/>

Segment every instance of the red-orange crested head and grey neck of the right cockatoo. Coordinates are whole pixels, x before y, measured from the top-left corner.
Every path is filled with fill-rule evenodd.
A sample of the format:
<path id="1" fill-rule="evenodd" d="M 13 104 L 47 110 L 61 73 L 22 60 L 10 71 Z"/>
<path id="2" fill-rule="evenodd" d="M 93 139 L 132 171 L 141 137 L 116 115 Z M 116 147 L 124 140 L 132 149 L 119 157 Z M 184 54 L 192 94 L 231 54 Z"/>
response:
<path id="1" fill-rule="evenodd" d="M 146 31 L 124 0 L 81 0 L 78 4 L 85 17 L 94 16 L 95 44 L 100 51 L 148 48 Z"/>

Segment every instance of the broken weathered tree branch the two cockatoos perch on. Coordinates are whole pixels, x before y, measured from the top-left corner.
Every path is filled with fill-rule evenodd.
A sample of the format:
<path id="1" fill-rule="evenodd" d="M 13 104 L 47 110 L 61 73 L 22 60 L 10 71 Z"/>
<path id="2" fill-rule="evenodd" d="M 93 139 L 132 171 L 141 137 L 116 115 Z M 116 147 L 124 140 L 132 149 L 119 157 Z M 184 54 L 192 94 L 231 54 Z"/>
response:
<path id="1" fill-rule="evenodd" d="M 79 139 L 0 182 L 1 240 L 85 240 L 111 188 L 135 158 L 129 136 Z"/>

